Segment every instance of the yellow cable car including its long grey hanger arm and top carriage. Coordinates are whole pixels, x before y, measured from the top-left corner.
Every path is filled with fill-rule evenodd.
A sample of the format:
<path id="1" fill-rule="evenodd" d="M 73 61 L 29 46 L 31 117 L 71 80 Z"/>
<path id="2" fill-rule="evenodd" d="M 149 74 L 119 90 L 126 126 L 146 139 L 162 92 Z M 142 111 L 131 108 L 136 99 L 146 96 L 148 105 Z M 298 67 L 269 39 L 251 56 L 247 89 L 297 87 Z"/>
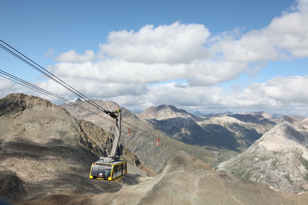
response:
<path id="1" fill-rule="evenodd" d="M 127 173 L 126 161 L 119 160 L 119 156 L 116 156 L 121 136 L 121 111 L 111 112 L 104 110 L 104 112 L 115 119 L 115 138 L 110 155 L 107 157 L 99 157 L 97 162 L 92 163 L 89 177 L 90 179 L 113 182 L 121 179 Z"/>

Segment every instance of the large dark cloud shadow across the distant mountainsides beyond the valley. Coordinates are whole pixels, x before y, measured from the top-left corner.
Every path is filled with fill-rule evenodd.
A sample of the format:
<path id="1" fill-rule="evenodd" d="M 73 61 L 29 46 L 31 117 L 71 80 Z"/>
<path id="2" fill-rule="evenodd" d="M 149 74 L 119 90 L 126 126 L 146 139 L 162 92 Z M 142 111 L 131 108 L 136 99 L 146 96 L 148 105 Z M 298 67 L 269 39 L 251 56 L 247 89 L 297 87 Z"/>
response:
<path id="1" fill-rule="evenodd" d="M 248 148 L 262 136 L 256 129 L 245 128 L 236 123 L 228 124 L 226 128 L 220 124 L 200 125 L 193 119 L 181 117 L 165 120 L 149 119 L 148 121 L 167 135 L 185 144 L 228 149 L 235 152 L 240 152 L 240 147 Z"/>

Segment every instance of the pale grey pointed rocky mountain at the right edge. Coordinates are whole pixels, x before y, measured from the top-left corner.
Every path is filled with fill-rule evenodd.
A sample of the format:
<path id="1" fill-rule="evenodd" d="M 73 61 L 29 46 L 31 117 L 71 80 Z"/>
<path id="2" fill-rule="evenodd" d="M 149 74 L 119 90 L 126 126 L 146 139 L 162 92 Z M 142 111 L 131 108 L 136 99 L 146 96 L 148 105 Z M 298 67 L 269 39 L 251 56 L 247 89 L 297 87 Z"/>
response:
<path id="1" fill-rule="evenodd" d="M 288 193 L 308 191 L 308 126 L 284 116 L 245 152 L 219 165 L 226 171 Z"/>

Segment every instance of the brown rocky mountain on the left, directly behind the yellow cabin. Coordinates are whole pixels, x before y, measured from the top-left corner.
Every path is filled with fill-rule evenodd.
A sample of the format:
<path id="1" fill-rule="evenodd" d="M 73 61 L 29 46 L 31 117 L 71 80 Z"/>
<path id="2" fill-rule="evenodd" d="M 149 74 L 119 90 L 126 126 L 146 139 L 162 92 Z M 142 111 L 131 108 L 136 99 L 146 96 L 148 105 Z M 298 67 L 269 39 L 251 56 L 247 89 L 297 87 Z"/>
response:
<path id="1" fill-rule="evenodd" d="M 98 193 L 116 187 L 88 180 L 91 163 L 107 156 L 112 139 L 111 133 L 42 98 L 17 93 L 0 99 L 2 197 L 24 199 L 74 187 Z"/>

